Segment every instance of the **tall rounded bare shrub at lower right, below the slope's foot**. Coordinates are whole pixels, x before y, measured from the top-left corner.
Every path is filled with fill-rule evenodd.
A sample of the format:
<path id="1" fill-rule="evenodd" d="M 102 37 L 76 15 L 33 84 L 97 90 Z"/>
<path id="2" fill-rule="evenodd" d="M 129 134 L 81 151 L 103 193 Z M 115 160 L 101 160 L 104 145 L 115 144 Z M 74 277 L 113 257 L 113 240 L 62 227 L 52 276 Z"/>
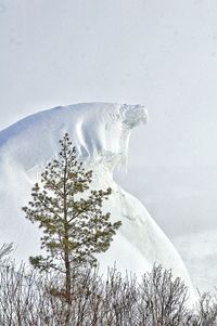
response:
<path id="1" fill-rule="evenodd" d="M 183 325 L 188 288 L 179 277 L 173 279 L 170 270 L 154 265 L 151 273 L 144 274 L 139 291 L 138 309 L 143 323 L 141 325 Z"/>

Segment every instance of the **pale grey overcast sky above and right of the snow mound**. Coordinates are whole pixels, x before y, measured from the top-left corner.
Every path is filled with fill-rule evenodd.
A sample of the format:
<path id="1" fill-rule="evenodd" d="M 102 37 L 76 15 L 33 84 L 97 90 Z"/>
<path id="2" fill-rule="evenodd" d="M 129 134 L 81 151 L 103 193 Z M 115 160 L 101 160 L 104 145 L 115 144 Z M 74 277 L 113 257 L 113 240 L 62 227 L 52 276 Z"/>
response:
<path id="1" fill-rule="evenodd" d="M 215 168 L 217 1 L 0 0 L 0 129 L 40 109 L 95 101 L 149 110 L 149 125 L 132 133 L 123 177 L 131 188 L 137 180 L 138 194 L 149 179 L 148 208 L 163 183 L 168 197 L 183 183 L 174 172 L 170 180 L 159 182 L 157 171 L 145 179 L 148 167 Z M 144 178 L 130 172 L 136 166 Z M 184 192 L 192 182 L 201 191 L 187 179 Z M 163 223 L 156 207 L 150 204 Z"/>

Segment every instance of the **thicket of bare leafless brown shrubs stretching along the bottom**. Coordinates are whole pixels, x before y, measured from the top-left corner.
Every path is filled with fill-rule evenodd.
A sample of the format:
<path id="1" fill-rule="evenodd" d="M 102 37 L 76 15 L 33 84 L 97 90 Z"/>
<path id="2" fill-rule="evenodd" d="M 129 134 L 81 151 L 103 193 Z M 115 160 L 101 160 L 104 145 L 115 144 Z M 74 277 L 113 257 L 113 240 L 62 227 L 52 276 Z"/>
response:
<path id="1" fill-rule="evenodd" d="M 216 326 L 217 303 L 202 295 L 187 307 L 188 289 L 171 271 L 155 265 L 138 282 L 116 269 L 103 278 L 97 269 L 72 271 L 72 303 L 61 273 L 39 273 L 24 265 L 0 268 L 2 326 Z"/>

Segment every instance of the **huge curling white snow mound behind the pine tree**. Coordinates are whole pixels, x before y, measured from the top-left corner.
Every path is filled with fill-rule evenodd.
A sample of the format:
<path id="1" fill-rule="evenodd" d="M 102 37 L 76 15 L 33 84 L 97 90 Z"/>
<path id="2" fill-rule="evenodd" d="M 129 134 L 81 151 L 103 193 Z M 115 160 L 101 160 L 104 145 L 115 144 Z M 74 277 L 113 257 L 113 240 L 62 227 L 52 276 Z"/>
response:
<path id="1" fill-rule="evenodd" d="M 93 169 L 93 186 L 111 186 L 105 205 L 123 225 L 110 250 L 99 257 L 108 264 L 142 273 L 154 263 L 171 268 L 191 287 L 177 250 L 142 204 L 113 180 L 113 170 L 126 162 L 130 131 L 148 120 L 142 105 L 77 104 L 40 112 L 0 132 L 0 238 L 13 242 L 15 255 L 26 259 L 39 250 L 36 225 L 23 217 L 30 188 L 46 164 L 59 153 L 59 140 L 69 133 L 79 157 Z M 139 151 L 139 148 L 138 148 Z"/>

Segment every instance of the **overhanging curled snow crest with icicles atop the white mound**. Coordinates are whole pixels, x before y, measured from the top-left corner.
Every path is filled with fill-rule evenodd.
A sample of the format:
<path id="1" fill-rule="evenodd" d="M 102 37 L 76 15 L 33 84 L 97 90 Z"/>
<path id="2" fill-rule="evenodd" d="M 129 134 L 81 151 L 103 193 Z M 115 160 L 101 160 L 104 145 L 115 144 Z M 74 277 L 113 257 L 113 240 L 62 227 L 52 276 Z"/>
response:
<path id="1" fill-rule="evenodd" d="M 122 165 L 127 159 L 130 130 L 146 122 L 143 105 L 84 103 L 59 106 L 31 115 L 0 131 L 0 154 L 30 169 L 56 153 L 59 140 L 69 133 L 79 157 L 86 161 L 107 160 Z M 33 151 L 34 158 L 25 160 Z M 15 146 L 20 143 L 20 146 Z M 7 148 L 7 149 L 5 149 Z"/>

